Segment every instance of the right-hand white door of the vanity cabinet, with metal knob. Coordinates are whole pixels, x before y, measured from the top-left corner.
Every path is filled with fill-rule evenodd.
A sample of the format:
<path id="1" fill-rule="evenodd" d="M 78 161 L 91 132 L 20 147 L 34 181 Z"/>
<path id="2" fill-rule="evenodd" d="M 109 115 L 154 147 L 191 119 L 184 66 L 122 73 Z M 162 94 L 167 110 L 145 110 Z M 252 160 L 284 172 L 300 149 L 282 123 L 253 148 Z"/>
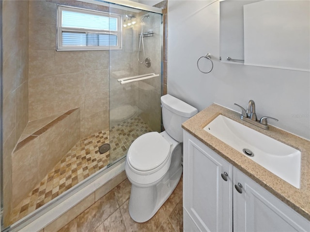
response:
<path id="1" fill-rule="evenodd" d="M 310 222 L 233 167 L 233 231 L 309 232 Z"/>

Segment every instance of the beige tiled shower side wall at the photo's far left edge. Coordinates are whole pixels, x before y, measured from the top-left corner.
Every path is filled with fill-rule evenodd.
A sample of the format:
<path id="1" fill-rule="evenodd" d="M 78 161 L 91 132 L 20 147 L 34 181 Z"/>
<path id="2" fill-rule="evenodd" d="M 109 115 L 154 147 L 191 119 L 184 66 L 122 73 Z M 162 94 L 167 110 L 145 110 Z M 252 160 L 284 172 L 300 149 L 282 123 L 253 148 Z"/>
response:
<path id="1" fill-rule="evenodd" d="M 3 197 L 8 225 L 12 197 L 11 153 L 28 122 L 28 1 L 2 1 Z"/>

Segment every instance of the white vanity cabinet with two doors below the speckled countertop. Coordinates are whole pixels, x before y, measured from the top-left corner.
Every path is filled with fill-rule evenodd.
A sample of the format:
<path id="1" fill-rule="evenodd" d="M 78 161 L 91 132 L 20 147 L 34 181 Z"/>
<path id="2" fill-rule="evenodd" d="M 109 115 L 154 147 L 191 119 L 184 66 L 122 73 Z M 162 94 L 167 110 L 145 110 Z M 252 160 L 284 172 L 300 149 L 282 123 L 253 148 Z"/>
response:
<path id="1" fill-rule="evenodd" d="M 185 232 L 310 231 L 310 222 L 184 131 Z"/>

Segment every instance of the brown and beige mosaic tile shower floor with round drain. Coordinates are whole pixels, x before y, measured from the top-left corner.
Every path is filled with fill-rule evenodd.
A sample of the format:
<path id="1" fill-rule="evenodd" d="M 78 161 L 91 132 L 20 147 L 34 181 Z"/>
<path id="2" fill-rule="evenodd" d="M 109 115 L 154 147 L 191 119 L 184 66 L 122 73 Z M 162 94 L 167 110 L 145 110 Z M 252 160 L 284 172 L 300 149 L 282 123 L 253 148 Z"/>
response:
<path id="1" fill-rule="evenodd" d="M 148 125 L 136 116 L 112 126 L 110 132 L 100 131 L 80 140 L 13 209 L 11 224 L 106 167 L 109 162 L 113 163 L 122 158 L 136 138 L 151 131 Z M 100 154 L 98 147 L 105 143 L 110 143 L 110 150 Z"/>

